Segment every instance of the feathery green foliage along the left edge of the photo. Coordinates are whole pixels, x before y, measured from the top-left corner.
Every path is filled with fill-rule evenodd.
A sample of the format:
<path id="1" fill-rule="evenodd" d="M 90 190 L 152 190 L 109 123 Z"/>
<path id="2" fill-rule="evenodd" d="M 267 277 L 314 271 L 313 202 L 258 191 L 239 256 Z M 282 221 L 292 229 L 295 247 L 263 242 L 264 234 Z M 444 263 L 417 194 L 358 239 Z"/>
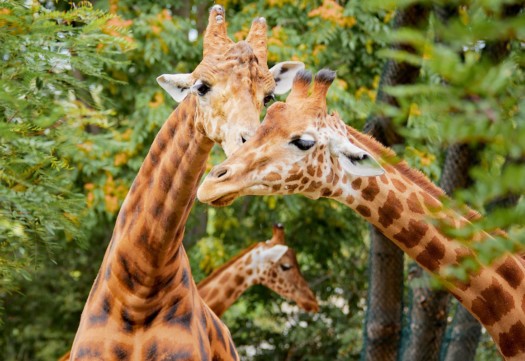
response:
<path id="1" fill-rule="evenodd" d="M 79 153 L 108 142 L 86 129 L 108 128 L 111 110 L 90 103 L 97 81 L 108 79 L 104 67 L 118 64 L 115 55 L 128 47 L 104 33 L 110 19 L 89 6 L 61 12 L 0 4 L 0 295 L 56 259 L 64 242 L 86 240 Z"/>

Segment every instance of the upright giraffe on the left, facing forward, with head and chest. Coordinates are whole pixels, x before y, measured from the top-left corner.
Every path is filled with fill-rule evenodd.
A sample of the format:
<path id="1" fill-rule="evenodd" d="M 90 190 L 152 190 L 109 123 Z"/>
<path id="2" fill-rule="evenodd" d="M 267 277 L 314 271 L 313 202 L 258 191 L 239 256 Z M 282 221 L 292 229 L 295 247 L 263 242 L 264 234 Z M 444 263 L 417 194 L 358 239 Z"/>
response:
<path id="1" fill-rule="evenodd" d="M 227 36 L 221 6 L 211 8 L 208 21 L 198 67 L 158 78 L 181 103 L 117 216 L 71 360 L 238 359 L 228 329 L 197 292 L 182 246 L 184 225 L 214 142 L 230 154 L 248 139 L 265 99 L 291 87 L 292 74 L 304 66 L 268 69 L 263 18 L 238 43 Z"/>

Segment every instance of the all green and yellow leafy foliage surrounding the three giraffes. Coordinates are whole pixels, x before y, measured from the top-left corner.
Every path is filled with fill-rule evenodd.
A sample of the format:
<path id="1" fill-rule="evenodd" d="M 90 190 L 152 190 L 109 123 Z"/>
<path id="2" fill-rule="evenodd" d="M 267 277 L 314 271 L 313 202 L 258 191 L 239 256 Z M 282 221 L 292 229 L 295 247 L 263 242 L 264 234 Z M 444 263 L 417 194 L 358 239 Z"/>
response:
<path id="1" fill-rule="evenodd" d="M 443 26 L 393 31 L 394 2 L 219 1 L 229 34 L 269 25 L 269 65 L 301 60 L 338 77 L 329 106 L 357 129 L 372 111 L 398 119 L 403 156 L 439 179 L 448 144 L 482 144 L 473 185 L 457 192 L 483 211 L 525 188 L 523 12 L 502 20 L 503 0 L 453 1 Z M 396 2 L 406 6 L 413 1 Z M 0 354 L 54 360 L 71 345 L 82 307 L 126 196 L 153 137 L 176 104 L 157 85 L 201 59 L 208 1 L 0 2 Z M 432 6 L 432 2 L 427 3 Z M 439 41 L 438 41 L 439 40 Z M 393 42 L 416 51 L 392 50 Z M 511 51 L 480 60 L 488 42 Z M 520 42 L 521 41 L 521 42 Z M 376 109 L 387 57 L 421 65 L 417 84 L 395 87 L 400 107 Z M 405 122 L 408 117 L 408 122 Z M 223 159 L 215 149 L 209 165 Z M 524 204 L 472 225 L 509 228 L 479 245 L 487 261 L 525 243 Z M 321 303 L 300 312 L 254 287 L 224 316 L 241 355 L 253 360 L 358 360 L 366 311 L 365 224 L 341 205 L 299 196 L 246 197 L 231 207 L 196 204 L 185 245 L 198 282 L 248 245 L 285 226 Z M 465 231 L 468 233 L 468 230 Z M 454 270 L 454 272 L 462 272 Z M 490 341 L 479 360 L 494 360 Z"/>

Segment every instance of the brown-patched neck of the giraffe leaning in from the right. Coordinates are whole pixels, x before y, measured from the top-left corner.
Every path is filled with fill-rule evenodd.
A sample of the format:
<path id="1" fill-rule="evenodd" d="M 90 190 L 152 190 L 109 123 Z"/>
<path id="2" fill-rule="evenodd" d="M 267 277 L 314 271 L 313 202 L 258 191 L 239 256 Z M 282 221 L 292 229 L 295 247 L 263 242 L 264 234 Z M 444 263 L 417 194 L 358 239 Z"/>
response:
<path id="1" fill-rule="evenodd" d="M 370 137 L 347 127 L 349 139 L 357 140 L 376 159 L 392 153 Z M 465 244 L 491 236 L 478 232 L 469 241 L 447 237 L 439 224 L 460 228 L 477 217 L 466 217 L 446 208 L 443 191 L 404 162 L 384 165 L 380 177 L 338 181 L 331 192 L 353 208 L 398 245 L 409 257 L 438 277 L 449 291 L 486 327 L 508 360 L 525 357 L 525 267 L 510 253 L 483 265 Z M 466 257 L 479 267 L 464 281 L 453 278 L 448 266 Z"/>

